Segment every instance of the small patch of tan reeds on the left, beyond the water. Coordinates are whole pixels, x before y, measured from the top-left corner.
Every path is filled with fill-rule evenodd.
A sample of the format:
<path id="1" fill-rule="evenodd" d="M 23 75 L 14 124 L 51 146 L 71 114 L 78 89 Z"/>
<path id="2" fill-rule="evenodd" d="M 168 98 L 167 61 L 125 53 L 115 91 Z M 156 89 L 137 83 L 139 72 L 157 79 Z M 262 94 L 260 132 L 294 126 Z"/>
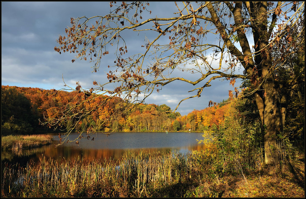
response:
<path id="1" fill-rule="evenodd" d="M 51 135 L 8 135 L 1 137 L 1 150 L 20 150 L 51 144 Z"/>

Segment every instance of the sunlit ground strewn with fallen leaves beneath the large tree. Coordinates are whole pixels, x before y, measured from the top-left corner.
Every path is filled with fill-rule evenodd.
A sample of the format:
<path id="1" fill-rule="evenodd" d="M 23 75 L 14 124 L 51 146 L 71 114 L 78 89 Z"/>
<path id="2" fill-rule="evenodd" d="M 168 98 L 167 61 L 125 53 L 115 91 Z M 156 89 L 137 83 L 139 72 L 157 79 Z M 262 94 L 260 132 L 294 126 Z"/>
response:
<path id="1" fill-rule="evenodd" d="M 305 155 L 282 169 L 266 168 L 261 174 L 241 175 L 220 183 L 221 197 L 305 197 Z"/>

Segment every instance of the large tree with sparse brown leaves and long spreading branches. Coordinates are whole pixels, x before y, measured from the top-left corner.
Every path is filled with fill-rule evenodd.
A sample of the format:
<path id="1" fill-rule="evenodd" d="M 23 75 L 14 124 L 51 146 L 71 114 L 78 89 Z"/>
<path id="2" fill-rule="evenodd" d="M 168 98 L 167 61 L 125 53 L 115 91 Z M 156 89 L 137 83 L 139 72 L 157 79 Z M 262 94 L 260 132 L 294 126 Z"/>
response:
<path id="1" fill-rule="evenodd" d="M 275 162 L 275 136 L 283 129 L 286 108 L 279 89 L 304 82 L 303 78 L 284 81 L 276 77 L 276 71 L 285 67 L 293 54 L 304 51 L 300 47 L 304 45 L 304 2 L 172 3 L 177 11 L 166 18 L 163 14 L 169 13 L 159 9 L 162 2 L 156 10 L 150 10 L 145 2 L 110 2 L 110 13 L 71 18 L 71 27 L 66 28 L 65 36 L 59 36 L 54 50 L 90 59 L 94 72 L 99 67 L 109 70 L 107 81 L 93 81 L 95 88 L 91 89 L 77 83 L 75 90 L 84 92 L 84 99 L 89 94 L 121 96 L 127 106 L 142 102 L 174 81 L 195 86 L 188 91 L 195 94 L 182 101 L 200 97 L 211 81 L 220 78 L 233 85 L 234 91 L 229 91 L 232 98 L 238 95 L 236 79 L 249 79 L 264 129 L 265 162 Z M 135 36 L 145 32 L 141 47 L 128 46 L 130 32 Z M 281 46 L 282 39 L 290 49 Z M 279 56 L 272 57 L 275 47 Z M 137 52 L 128 52 L 131 48 Z M 104 66 L 104 56 L 113 54 L 114 65 Z M 243 71 L 238 70 L 240 66 Z M 195 75 L 176 77 L 176 71 Z M 116 86 L 107 85 L 113 83 Z M 73 106 L 69 107 L 59 119 L 71 119 L 65 115 L 73 111 Z"/>

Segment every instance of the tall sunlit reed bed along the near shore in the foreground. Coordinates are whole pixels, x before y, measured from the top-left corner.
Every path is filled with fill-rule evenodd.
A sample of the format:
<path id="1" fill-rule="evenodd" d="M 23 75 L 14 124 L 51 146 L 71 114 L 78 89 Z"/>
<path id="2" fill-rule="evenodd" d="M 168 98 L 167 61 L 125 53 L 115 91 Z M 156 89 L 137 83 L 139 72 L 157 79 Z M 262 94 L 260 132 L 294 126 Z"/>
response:
<path id="1" fill-rule="evenodd" d="M 1 193 L 2 197 L 163 197 L 165 187 L 192 186 L 192 179 L 204 170 L 197 153 L 126 153 L 120 160 L 43 157 L 25 167 L 3 166 Z"/>

